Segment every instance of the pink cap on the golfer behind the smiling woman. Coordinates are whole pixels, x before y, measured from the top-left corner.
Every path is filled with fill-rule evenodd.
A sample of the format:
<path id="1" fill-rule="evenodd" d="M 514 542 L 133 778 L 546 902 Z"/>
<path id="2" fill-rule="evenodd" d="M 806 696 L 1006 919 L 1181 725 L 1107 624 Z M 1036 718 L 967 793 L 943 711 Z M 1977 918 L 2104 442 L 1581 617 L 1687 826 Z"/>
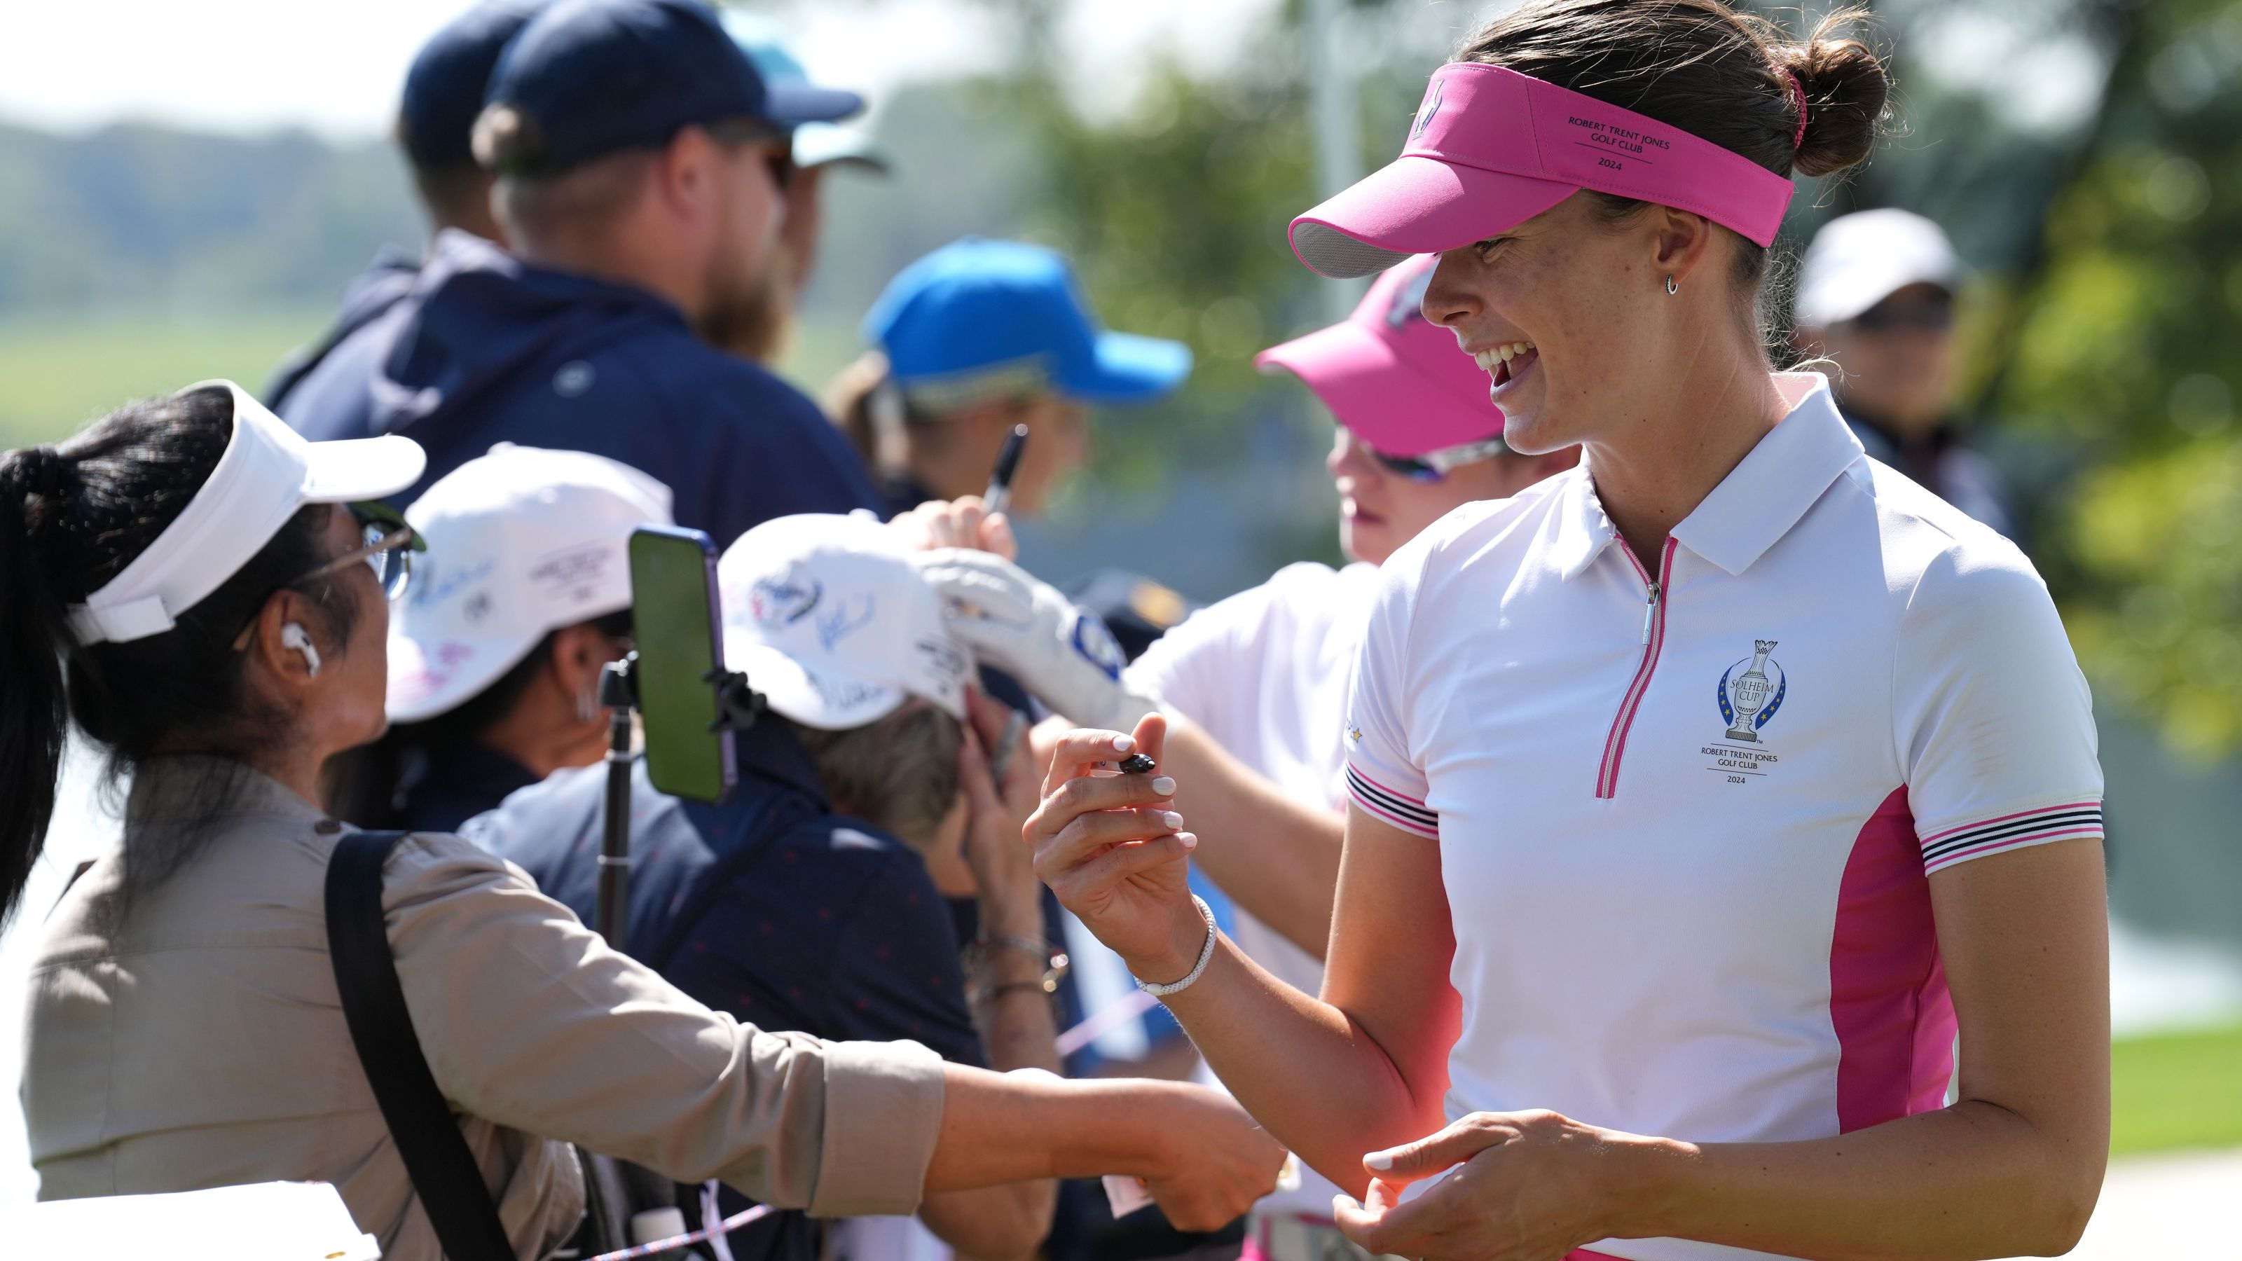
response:
<path id="1" fill-rule="evenodd" d="M 1424 289 L 1439 256 L 1408 258 L 1379 276 L 1354 314 L 1271 346 L 1262 370 L 1289 368 L 1338 424 L 1388 455 L 1424 455 L 1502 435 L 1489 377 L 1455 334 L 1424 319 Z"/>

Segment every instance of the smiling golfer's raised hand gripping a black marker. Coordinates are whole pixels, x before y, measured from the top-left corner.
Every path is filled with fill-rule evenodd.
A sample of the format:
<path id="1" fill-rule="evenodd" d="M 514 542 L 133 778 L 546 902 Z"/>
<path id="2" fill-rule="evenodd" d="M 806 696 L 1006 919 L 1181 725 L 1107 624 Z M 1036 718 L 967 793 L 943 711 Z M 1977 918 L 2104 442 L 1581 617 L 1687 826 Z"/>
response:
<path id="1" fill-rule="evenodd" d="M 1067 731 L 1043 781 L 1043 806 L 1022 835 L 1036 848 L 1036 875 L 1141 981 L 1168 983 L 1191 972 L 1206 945 L 1206 920 L 1191 902 L 1188 857 L 1199 839 L 1175 812 L 1175 779 L 1114 774 L 1114 763 L 1159 763 L 1168 720 L 1146 714 L 1134 736 Z"/>

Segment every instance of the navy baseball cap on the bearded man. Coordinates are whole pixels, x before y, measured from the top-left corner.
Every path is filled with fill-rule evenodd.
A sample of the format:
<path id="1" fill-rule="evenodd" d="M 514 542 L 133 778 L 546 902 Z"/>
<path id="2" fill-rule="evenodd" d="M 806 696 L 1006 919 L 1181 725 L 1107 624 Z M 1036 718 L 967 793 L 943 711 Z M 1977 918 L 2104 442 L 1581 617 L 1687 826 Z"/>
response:
<path id="1" fill-rule="evenodd" d="M 773 130 L 834 121 L 863 96 L 765 83 L 702 0 L 558 0 L 522 27 L 491 72 L 484 114 L 522 117 L 527 153 L 502 173 L 567 171 L 682 128 L 749 119 Z"/>

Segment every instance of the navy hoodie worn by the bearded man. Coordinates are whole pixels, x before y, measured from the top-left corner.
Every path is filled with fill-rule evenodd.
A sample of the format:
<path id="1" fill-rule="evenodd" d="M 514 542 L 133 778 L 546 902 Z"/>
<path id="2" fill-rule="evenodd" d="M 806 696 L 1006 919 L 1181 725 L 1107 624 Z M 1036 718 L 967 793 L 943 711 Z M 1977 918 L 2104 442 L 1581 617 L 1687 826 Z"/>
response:
<path id="1" fill-rule="evenodd" d="M 428 482 L 498 442 L 610 455 L 666 482 L 717 547 L 796 512 L 879 512 L 847 440 L 800 390 L 700 341 L 668 301 L 531 267 L 446 231 L 410 292 L 276 399 L 314 442 L 401 433 Z"/>

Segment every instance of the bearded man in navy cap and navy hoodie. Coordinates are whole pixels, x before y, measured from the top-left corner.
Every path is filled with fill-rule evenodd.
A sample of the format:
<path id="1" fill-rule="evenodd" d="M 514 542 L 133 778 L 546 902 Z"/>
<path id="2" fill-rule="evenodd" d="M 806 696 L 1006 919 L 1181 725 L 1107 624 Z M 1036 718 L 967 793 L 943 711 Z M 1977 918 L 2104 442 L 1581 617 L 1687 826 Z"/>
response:
<path id="1" fill-rule="evenodd" d="M 495 442 L 592 451 L 717 545 L 879 507 L 816 404 L 708 343 L 771 265 L 787 128 L 850 92 L 767 83 L 700 0 L 560 0 L 507 45 L 475 123 L 516 254 L 437 238 L 413 292 L 285 402 L 314 440 L 401 433 L 435 478 Z"/>

